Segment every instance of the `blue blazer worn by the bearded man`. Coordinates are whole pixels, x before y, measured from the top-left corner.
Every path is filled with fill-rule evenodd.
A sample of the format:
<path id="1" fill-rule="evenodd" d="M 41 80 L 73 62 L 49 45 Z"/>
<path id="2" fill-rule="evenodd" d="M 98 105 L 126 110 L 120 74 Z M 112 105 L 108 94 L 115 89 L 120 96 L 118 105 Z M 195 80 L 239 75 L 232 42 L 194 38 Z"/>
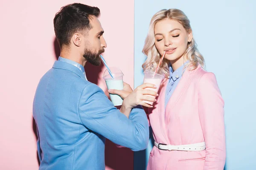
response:
<path id="1" fill-rule="evenodd" d="M 55 61 L 41 78 L 33 102 L 40 170 L 105 170 L 105 138 L 131 150 L 148 144 L 148 119 L 140 107 L 129 119 L 79 68 Z"/>

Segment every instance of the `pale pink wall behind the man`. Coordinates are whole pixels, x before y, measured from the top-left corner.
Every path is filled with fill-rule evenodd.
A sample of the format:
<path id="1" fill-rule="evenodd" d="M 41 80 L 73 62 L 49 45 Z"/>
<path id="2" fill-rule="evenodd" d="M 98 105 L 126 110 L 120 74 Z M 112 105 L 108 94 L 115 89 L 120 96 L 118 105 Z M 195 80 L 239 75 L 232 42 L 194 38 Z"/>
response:
<path id="1" fill-rule="evenodd" d="M 108 44 L 104 57 L 109 66 L 119 66 L 122 69 L 124 81 L 133 87 L 134 1 L 76 2 L 100 8 L 100 21 Z M 52 67 L 56 55 L 58 56 L 53 30 L 54 15 L 61 6 L 69 3 L 73 1 L 47 0 L 38 3 L 22 0 L 4 1 L 1 4 L 1 170 L 38 169 L 32 102 L 39 79 Z M 102 80 L 104 70 L 103 65 L 99 68 L 86 65 L 88 79 L 106 91 Z M 95 77 L 95 74 L 99 77 Z M 112 142 L 107 141 L 105 155 L 108 170 L 133 168 L 133 152 L 127 148 L 116 148 Z"/>

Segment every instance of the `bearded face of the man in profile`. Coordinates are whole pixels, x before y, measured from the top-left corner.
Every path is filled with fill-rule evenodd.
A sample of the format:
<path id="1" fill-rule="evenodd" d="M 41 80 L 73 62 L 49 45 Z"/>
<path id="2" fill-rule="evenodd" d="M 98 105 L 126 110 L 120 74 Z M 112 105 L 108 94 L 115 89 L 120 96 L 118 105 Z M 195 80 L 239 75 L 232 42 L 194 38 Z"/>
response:
<path id="1" fill-rule="evenodd" d="M 93 16 L 90 24 L 92 28 L 85 35 L 83 57 L 92 65 L 99 66 L 101 64 L 100 54 L 104 53 L 107 44 L 103 38 L 104 31 L 98 18 Z"/>

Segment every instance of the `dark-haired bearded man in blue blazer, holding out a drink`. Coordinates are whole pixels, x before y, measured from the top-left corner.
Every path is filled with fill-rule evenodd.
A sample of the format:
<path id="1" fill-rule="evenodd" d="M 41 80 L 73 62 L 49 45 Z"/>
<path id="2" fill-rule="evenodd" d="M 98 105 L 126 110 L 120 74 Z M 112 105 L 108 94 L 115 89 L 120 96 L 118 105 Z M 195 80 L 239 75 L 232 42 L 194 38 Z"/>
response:
<path id="1" fill-rule="evenodd" d="M 147 147 L 148 120 L 138 105 L 154 101 L 143 95 L 156 96 L 143 90 L 153 85 L 141 85 L 131 94 L 126 85 L 121 96 L 130 95 L 119 111 L 86 79 L 85 63 L 100 65 L 99 55 L 107 47 L 99 15 L 99 8 L 79 3 L 64 6 L 55 15 L 61 54 L 41 78 L 33 103 L 40 170 L 103 170 L 105 138 L 134 151 Z"/>

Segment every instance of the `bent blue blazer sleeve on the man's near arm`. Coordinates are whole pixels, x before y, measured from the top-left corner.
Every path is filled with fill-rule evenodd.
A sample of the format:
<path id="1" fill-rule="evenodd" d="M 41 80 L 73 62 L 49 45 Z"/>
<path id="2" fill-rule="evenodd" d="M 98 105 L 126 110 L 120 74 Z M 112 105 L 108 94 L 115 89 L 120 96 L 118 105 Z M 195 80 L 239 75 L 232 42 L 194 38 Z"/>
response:
<path id="1" fill-rule="evenodd" d="M 82 91 L 79 116 L 84 126 L 116 144 L 134 151 L 148 145 L 148 119 L 142 107 L 133 108 L 128 119 L 97 85 L 89 84 Z"/>

